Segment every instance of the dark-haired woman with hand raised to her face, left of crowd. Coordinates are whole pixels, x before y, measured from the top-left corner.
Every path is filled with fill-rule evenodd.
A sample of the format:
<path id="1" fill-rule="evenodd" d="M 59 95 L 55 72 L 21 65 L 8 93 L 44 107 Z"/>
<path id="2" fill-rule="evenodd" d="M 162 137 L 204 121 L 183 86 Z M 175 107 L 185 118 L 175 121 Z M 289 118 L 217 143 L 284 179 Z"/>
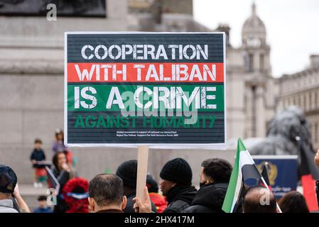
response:
<path id="1" fill-rule="evenodd" d="M 65 153 L 58 152 L 53 156 L 53 167 L 51 171 L 53 172 L 53 175 L 58 180 L 60 184 L 60 189 L 58 192 L 58 198 L 57 198 L 57 205 L 54 207 L 55 213 L 64 213 L 67 211 L 67 204 L 65 204 L 65 201 L 62 196 L 62 190 L 64 185 L 67 183 L 69 179 L 72 179 L 75 177 L 75 172 L 72 170 L 72 167 L 67 164 L 67 157 Z"/>

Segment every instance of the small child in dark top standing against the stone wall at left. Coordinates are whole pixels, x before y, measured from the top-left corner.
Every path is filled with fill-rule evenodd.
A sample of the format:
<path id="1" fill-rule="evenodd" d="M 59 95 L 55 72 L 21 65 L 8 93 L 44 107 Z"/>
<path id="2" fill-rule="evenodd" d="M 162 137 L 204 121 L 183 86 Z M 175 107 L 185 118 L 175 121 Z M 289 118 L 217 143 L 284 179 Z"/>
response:
<path id="1" fill-rule="evenodd" d="M 46 172 L 45 172 L 45 165 L 41 164 L 40 162 L 45 160 L 45 154 L 41 148 L 42 141 L 40 139 L 36 139 L 34 141 L 34 149 L 31 153 L 30 160 L 33 164 L 34 169 L 34 182 L 33 187 L 43 187 L 41 182 L 45 181 L 46 179 Z"/>

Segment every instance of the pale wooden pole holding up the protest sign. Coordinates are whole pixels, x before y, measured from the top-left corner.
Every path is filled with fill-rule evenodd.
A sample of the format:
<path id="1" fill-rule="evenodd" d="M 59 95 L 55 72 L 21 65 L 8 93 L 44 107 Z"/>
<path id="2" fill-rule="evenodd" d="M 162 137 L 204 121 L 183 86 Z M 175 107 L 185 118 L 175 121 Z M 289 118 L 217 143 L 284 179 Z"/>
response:
<path id="1" fill-rule="evenodd" d="M 136 197 L 144 201 L 144 187 L 146 186 L 147 164 L 148 164 L 148 146 L 139 146 L 137 155 L 137 179 L 136 179 Z"/>

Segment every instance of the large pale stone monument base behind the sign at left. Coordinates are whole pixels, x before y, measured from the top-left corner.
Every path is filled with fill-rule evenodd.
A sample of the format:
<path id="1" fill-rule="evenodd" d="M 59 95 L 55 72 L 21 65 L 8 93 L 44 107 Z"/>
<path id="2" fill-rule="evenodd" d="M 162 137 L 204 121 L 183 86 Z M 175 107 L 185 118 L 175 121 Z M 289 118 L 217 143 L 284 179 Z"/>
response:
<path id="1" fill-rule="evenodd" d="M 21 184 L 33 181 L 29 160 L 33 141 L 43 141 L 47 160 L 51 160 L 55 129 L 63 128 L 65 31 L 128 30 L 126 0 L 107 1 L 106 16 L 101 17 L 59 16 L 57 7 L 56 21 L 39 15 L 39 2 L 45 3 L 33 1 L 36 5 L 31 6 L 28 1 L 1 1 L 0 7 L 0 163 L 13 167 Z M 16 13 L 8 16 L 3 13 L 6 9 Z M 79 175 L 90 178 L 114 168 L 98 158 L 112 152 L 92 149 L 88 155 L 75 149 Z M 122 160 L 124 157 L 114 156 L 114 162 Z"/>

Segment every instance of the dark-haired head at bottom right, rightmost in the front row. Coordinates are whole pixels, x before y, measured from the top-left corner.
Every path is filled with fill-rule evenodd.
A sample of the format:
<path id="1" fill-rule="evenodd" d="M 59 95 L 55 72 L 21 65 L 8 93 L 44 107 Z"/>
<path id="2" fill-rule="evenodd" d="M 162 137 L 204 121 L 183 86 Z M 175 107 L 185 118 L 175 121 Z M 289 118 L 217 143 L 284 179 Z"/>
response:
<path id="1" fill-rule="evenodd" d="M 296 191 L 286 193 L 278 204 L 283 213 L 309 213 L 305 197 Z"/>

